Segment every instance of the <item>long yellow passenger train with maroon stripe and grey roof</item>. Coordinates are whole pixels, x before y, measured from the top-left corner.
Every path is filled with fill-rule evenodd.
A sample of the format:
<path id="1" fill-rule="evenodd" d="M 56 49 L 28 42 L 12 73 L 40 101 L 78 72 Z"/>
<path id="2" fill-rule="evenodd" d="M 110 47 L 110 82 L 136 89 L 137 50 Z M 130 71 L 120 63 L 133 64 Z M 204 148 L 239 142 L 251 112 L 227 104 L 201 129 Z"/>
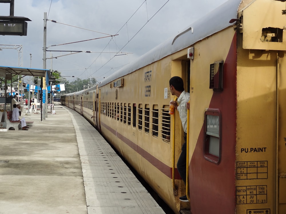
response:
<path id="1" fill-rule="evenodd" d="M 105 78 L 61 96 L 176 212 L 286 213 L 286 3 L 230 0 Z M 190 92 L 187 188 L 169 79 Z M 187 195 L 189 203 L 179 201 Z"/>

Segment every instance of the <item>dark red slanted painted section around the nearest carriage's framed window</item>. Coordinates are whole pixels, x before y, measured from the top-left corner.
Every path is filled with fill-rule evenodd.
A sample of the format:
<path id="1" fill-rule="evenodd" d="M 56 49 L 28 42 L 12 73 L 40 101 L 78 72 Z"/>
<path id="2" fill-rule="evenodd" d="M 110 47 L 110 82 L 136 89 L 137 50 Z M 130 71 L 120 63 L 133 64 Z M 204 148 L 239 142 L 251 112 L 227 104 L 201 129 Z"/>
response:
<path id="1" fill-rule="evenodd" d="M 192 214 L 235 213 L 236 51 L 235 34 L 223 66 L 223 91 L 213 92 L 209 105 L 221 111 L 221 161 L 216 165 L 204 159 L 202 127 L 189 166 Z"/>

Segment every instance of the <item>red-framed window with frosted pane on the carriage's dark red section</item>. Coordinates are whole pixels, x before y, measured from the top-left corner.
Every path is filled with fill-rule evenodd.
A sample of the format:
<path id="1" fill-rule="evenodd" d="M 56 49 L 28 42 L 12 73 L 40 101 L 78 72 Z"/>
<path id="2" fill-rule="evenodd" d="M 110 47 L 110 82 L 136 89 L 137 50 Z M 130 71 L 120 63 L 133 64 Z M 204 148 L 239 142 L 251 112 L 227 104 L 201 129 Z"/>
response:
<path id="1" fill-rule="evenodd" d="M 204 113 L 204 158 L 219 164 L 221 159 L 221 113 L 219 109 L 207 109 Z"/>

